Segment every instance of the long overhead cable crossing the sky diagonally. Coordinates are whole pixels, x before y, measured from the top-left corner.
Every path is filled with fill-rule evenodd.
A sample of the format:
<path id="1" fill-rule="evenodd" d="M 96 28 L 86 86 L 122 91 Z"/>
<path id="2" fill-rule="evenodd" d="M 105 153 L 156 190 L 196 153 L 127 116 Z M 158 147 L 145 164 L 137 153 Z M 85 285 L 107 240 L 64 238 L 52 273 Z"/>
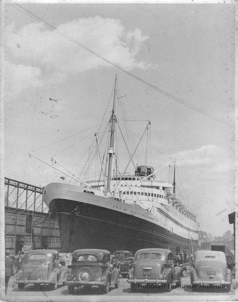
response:
<path id="1" fill-rule="evenodd" d="M 82 47 L 83 49 L 89 51 L 90 53 L 92 53 L 92 54 L 94 54 L 95 56 L 99 57 L 100 59 L 104 60 L 105 62 L 107 62 L 107 63 L 113 65 L 114 67 L 116 67 L 116 68 L 118 68 L 118 69 L 120 69 L 120 70 L 123 71 L 124 73 L 127 73 L 128 75 L 130 75 L 131 77 L 137 79 L 138 81 L 142 82 L 143 84 L 146 84 L 147 86 L 150 86 L 150 87 L 153 88 L 154 90 L 161 92 L 163 95 L 166 95 L 166 96 L 168 96 L 169 98 L 171 98 L 171 99 L 173 99 L 173 100 L 179 102 L 180 104 L 183 104 L 184 106 L 186 106 L 186 107 L 188 107 L 188 108 L 190 108 L 190 109 L 193 109 L 193 110 L 195 110 L 195 111 L 197 111 L 197 112 L 199 112 L 199 113 L 201 113 L 201 114 L 203 114 L 203 115 L 205 115 L 205 116 L 207 116 L 207 117 L 209 117 L 209 118 L 212 118 L 212 119 L 214 119 L 214 120 L 216 120 L 216 121 L 218 121 L 218 122 L 221 122 L 221 123 L 223 123 L 223 124 L 225 124 L 225 125 L 227 125 L 227 126 L 235 127 L 235 124 L 234 124 L 234 123 L 229 122 L 229 121 L 225 120 L 224 118 L 218 117 L 218 116 L 216 116 L 216 115 L 213 114 L 213 113 L 209 113 L 209 112 L 205 111 L 204 109 L 201 109 L 201 108 L 199 108 L 199 107 L 197 107 L 197 106 L 195 106 L 195 105 L 193 105 L 193 104 L 187 103 L 186 101 L 184 101 L 184 100 L 182 100 L 182 99 L 180 99 L 180 98 L 178 98 L 178 97 L 176 97 L 176 96 L 170 94 L 169 92 L 166 92 L 166 91 L 162 90 L 161 88 L 158 88 L 158 87 L 156 87 L 156 86 L 154 86 L 154 85 L 152 85 L 152 84 L 150 84 L 150 83 L 144 81 L 143 79 L 137 77 L 137 76 L 134 75 L 133 73 L 130 73 L 129 71 L 123 69 L 123 68 L 120 67 L 119 65 L 117 65 L 117 64 L 115 64 L 115 63 L 113 63 L 113 62 L 107 60 L 106 58 L 104 58 L 103 56 L 99 55 L 98 53 L 96 53 L 95 51 L 91 50 L 90 48 L 86 47 L 85 45 L 83 45 L 82 43 L 78 42 L 78 41 L 75 40 L 74 38 L 72 38 L 72 37 L 66 35 L 65 33 L 60 32 L 60 30 L 58 30 L 55 26 L 53 26 L 53 25 L 51 25 L 50 23 L 48 23 L 48 22 L 42 20 L 41 18 L 37 17 L 37 16 L 34 15 L 32 12 L 30 12 L 30 11 L 28 11 L 27 9 L 23 8 L 23 7 L 20 6 L 19 4 L 15 4 L 15 5 L 14 5 L 14 4 L 10 4 L 10 5 L 13 6 L 13 7 L 14 7 L 14 6 L 20 7 L 21 9 L 19 9 L 19 8 L 18 8 L 18 9 L 19 9 L 20 11 L 24 10 L 25 12 L 22 11 L 24 14 L 26 14 L 26 15 L 30 14 L 31 17 L 32 17 L 34 20 L 37 20 L 37 21 L 40 21 L 41 23 L 44 23 L 48 28 L 54 29 L 55 31 L 57 31 L 62 37 L 67 38 L 67 39 L 69 39 L 69 41 L 72 41 L 72 42 L 76 43 L 77 45 L 79 45 L 79 46 Z M 26 13 L 26 12 L 27 12 L 27 13 Z M 33 151 L 32 151 L 32 152 L 33 152 Z"/>

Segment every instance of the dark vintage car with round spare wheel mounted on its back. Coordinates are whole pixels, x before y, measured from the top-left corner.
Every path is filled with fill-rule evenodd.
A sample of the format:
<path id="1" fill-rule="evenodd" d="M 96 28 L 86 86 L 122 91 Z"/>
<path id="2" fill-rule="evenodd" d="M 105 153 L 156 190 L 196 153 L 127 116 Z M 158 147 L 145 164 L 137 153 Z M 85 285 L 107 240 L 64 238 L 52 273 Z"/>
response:
<path id="1" fill-rule="evenodd" d="M 111 254 L 106 250 L 87 249 L 73 252 L 70 273 L 66 273 L 68 292 L 73 293 L 74 287 L 98 286 L 101 293 L 108 293 L 109 286 L 118 288 L 119 269 L 111 267 Z"/>

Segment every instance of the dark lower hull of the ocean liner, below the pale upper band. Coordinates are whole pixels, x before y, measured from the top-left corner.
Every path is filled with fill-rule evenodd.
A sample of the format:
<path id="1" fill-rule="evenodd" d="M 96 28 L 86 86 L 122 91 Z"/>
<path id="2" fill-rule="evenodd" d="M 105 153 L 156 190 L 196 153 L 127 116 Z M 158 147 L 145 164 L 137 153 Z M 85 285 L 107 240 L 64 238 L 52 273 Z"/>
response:
<path id="1" fill-rule="evenodd" d="M 133 207 L 134 215 L 126 213 L 125 203 L 121 203 L 121 207 L 125 207 L 124 213 L 85 202 L 52 199 L 49 208 L 60 228 L 61 252 L 89 248 L 111 253 L 116 250 L 135 253 L 142 248 L 165 248 L 172 252 L 191 250 L 188 238 L 146 220 L 146 215 L 139 214 L 139 217 L 136 207 Z M 193 242 L 198 244 L 197 240 Z"/>

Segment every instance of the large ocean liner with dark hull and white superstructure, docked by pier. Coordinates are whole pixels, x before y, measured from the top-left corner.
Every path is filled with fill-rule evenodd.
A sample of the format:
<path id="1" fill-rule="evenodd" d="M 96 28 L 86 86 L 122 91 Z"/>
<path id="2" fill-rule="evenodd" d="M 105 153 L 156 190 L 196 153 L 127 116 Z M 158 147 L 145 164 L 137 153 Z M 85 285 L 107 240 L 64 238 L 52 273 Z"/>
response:
<path id="1" fill-rule="evenodd" d="M 43 201 L 60 228 L 61 252 L 86 248 L 133 253 L 142 248 L 191 249 L 198 243 L 199 223 L 175 195 L 175 165 L 173 183 L 156 180 L 155 174 L 162 168 L 155 171 L 146 164 L 136 166 L 129 175 L 128 163 L 123 173 L 113 174 L 116 84 L 117 77 L 107 171 L 99 152 L 103 179 L 85 182 L 77 177 L 80 185 L 51 183 L 43 191 Z M 95 136 L 98 144 L 97 133 Z M 129 154 L 131 161 L 134 153 Z"/>

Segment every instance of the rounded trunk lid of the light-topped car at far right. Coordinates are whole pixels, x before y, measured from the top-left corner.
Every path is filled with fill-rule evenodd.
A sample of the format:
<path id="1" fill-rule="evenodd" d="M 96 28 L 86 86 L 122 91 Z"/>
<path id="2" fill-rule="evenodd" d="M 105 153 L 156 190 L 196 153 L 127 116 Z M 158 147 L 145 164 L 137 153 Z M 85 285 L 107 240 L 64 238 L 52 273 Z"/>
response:
<path id="1" fill-rule="evenodd" d="M 200 261 L 195 263 L 194 267 L 198 277 L 201 279 L 220 280 L 227 273 L 227 265 L 223 262 Z"/>

